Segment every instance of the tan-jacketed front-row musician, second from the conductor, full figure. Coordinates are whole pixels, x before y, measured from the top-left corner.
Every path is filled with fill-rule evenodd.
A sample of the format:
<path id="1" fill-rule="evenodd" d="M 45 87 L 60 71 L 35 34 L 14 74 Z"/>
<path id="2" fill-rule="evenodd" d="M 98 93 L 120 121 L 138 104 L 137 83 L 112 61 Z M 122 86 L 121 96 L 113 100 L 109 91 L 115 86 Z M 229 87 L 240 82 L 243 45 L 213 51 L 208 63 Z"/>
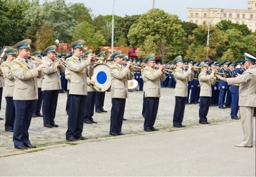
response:
<path id="1" fill-rule="evenodd" d="M 182 125 L 184 111 L 185 111 L 185 102 L 186 97 L 188 96 L 188 78 L 193 79 L 192 74 L 192 64 L 188 64 L 188 70 L 183 69 L 182 57 L 177 56 L 174 59 L 174 64 L 176 65 L 174 78 L 176 80 L 175 87 L 175 108 L 174 108 L 174 127 L 180 128 L 185 127 Z"/>

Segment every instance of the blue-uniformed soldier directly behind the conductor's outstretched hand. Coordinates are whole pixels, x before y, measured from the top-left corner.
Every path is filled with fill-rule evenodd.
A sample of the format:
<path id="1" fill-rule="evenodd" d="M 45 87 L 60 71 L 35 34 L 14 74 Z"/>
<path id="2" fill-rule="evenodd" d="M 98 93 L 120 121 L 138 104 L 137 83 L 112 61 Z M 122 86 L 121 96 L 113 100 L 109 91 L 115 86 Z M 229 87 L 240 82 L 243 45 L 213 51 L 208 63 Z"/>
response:
<path id="1" fill-rule="evenodd" d="M 220 69 L 219 73 L 221 73 L 221 77 L 226 78 L 226 69 L 228 69 L 228 61 L 224 61 L 220 64 L 222 68 Z M 226 107 L 224 106 L 224 101 L 225 100 L 225 95 L 226 95 L 226 89 L 228 88 L 228 84 L 224 81 L 220 81 L 218 83 L 218 88 L 220 89 L 220 95 L 218 96 L 218 108 L 220 109 L 225 109 Z"/>

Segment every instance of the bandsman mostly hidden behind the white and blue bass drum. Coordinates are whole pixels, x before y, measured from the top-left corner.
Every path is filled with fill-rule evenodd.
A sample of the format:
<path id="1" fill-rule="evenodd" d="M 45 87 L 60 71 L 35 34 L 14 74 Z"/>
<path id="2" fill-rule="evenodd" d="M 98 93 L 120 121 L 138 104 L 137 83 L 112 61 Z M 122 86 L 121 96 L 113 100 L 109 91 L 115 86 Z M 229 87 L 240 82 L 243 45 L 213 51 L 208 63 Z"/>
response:
<path id="1" fill-rule="evenodd" d="M 105 51 L 102 51 L 100 53 L 97 54 L 96 56 L 97 58 L 99 58 L 98 62 L 100 64 L 104 64 L 105 63 L 105 58 L 106 58 L 106 54 Z M 105 91 L 96 91 L 96 101 L 95 101 L 95 112 L 108 112 L 106 110 L 104 110 L 104 100 L 105 100 Z"/>

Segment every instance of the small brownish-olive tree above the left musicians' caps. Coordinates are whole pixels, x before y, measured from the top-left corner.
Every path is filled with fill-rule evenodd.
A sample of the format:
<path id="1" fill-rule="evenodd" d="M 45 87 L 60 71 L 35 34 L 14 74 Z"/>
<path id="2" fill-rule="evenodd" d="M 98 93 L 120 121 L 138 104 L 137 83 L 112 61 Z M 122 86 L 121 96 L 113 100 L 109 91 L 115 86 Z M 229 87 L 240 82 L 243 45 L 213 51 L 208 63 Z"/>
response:
<path id="1" fill-rule="evenodd" d="M 53 29 L 48 24 L 43 24 L 36 33 L 36 50 L 44 50 L 54 44 Z"/>

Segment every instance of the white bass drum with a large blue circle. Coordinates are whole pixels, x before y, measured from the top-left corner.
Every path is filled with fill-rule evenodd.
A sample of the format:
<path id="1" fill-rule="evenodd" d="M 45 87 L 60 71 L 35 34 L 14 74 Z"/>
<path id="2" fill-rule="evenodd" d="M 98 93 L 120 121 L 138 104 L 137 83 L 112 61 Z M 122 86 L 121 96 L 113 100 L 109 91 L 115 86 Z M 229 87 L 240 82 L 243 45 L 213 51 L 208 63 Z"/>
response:
<path id="1" fill-rule="evenodd" d="M 111 86 L 110 68 L 105 64 L 94 66 L 91 80 L 95 83 L 93 86 L 96 91 L 106 91 Z"/>

